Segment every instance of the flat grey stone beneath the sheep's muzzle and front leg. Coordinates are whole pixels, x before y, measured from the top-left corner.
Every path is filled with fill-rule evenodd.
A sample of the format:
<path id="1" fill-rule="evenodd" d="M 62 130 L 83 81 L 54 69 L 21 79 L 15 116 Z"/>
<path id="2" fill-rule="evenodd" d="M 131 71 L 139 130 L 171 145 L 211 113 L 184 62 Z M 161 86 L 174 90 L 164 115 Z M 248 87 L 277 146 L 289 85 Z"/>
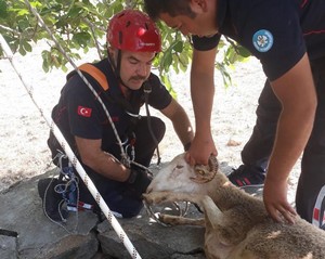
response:
<path id="1" fill-rule="evenodd" d="M 198 213 L 196 208 L 190 207 L 191 218 Z M 205 229 L 202 226 L 162 226 L 151 220 L 144 210 L 136 219 L 119 219 L 119 222 L 143 259 L 205 258 Z M 128 258 L 128 251 L 107 221 L 101 223 L 98 230 L 104 255 Z"/>

